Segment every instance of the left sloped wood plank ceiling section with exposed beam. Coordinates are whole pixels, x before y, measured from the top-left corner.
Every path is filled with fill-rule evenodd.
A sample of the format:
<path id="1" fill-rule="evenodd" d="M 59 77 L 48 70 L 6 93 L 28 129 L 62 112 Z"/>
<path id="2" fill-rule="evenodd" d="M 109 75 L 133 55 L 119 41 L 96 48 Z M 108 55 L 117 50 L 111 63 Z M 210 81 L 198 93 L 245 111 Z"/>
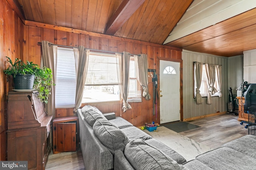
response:
<path id="1" fill-rule="evenodd" d="M 193 0 L 18 0 L 26 20 L 162 44 Z"/>

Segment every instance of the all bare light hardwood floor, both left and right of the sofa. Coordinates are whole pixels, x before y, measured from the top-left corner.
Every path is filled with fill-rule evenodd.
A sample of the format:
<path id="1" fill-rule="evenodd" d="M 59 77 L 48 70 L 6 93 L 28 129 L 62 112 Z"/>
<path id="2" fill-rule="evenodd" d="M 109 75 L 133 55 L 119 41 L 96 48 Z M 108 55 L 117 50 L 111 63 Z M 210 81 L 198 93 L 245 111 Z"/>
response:
<path id="1" fill-rule="evenodd" d="M 200 127 L 179 134 L 211 149 L 216 149 L 224 143 L 248 134 L 248 129 L 244 128 L 245 125 L 240 125 L 237 118 L 238 116 L 235 115 L 223 114 L 189 121 Z M 46 170 L 84 170 L 81 150 L 58 154 L 51 153 L 46 164 Z"/>

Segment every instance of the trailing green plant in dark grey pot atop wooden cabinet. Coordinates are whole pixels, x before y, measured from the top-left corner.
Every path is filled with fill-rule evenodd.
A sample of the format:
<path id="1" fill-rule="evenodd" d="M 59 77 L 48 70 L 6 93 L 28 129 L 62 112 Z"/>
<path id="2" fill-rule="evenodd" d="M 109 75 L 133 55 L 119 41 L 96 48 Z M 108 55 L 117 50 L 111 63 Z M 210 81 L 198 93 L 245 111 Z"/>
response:
<path id="1" fill-rule="evenodd" d="M 40 69 L 37 64 L 29 61 L 24 63 L 20 59 L 15 59 L 13 63 L 9 57 L 7 58 L 11 65 L 4 70 L 4 73 L 13 76 L 14 88 L 17 91 L 34 88 L 38 90 L 38 98 L 40 98 L 41 102 L 47 104 L 52 86 L 55 85 L 52 78 L 52 70 L 47 67 Z M 26 78 L 26 76 L 31 76 L 32 78 Z M 28 82 L 28 80 L 32 80 L 32 82 Z M 28 83 L 28 85 L 23 85 L 23 83 Z"/>

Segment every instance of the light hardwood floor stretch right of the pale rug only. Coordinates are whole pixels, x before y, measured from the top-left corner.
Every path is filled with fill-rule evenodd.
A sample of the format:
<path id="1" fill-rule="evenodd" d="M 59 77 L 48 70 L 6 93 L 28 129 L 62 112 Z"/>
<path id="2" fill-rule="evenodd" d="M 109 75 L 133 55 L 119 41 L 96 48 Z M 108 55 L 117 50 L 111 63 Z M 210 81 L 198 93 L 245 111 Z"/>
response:
<path id="1" fill-rule="evenodd" d="M 188 121 L 200 127 L 180 132 L 179 134 L 202 143 L 211 149 L 216 149 L 224 143 L 248 134 L 248 129 L 244 128 L 246 124 L 240 125 L 240 121 L 237 121 L 237 119 L 238 116 L 223 114 Z"/>

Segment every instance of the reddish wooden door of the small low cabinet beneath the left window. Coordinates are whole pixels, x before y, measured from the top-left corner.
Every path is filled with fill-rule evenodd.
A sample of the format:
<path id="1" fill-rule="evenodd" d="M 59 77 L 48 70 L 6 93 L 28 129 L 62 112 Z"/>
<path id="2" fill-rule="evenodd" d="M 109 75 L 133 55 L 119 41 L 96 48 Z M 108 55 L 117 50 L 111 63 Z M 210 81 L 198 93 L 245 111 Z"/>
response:
<path id="1" fill-rule="evenodd" d="M 76 151 L 76 123 L 57 123 L 56 131 L 56 151 Z"/>

